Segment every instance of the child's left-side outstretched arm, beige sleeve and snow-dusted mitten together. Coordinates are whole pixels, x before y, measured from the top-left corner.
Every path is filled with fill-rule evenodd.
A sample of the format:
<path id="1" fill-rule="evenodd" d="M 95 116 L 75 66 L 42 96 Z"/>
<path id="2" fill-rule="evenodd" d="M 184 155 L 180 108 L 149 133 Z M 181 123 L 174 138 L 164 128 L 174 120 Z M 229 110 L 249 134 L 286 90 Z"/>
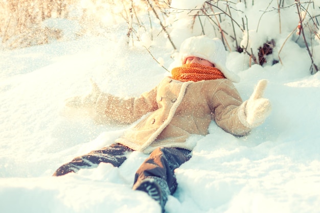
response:
<path id="1" fill-rule="evenodd" d="M 156 87 L 140 97 L 121 98 L 102 92 L 90 79 L 89 93 L 65 100 L 65 106 L 88 111 L 97 123 L 131 124 L 147 112 L 157 109 Z"/>

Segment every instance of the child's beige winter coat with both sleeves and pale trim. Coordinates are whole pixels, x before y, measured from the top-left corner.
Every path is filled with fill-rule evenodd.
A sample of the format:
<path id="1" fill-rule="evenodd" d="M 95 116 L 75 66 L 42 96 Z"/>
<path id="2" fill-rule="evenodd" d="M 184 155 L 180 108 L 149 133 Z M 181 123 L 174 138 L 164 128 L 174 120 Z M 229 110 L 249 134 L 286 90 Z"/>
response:
<path id="1" fill-rule="evenodd" d="M 250 128 L 241 122 L 241 117 L 245 117 L 241 104 L 238 91 L 227 79 L 180 82 L 167 77 L 139 98 L 123 99 L 102 93 L 96 103 L 96 120 L 131 124 L 142 117 L 116 140 L 133 150 L 192 150 L 194 145 L 187 139 L 192 134 L 208 134 L 212 120 L 228 133 L 248 133 Z"/>

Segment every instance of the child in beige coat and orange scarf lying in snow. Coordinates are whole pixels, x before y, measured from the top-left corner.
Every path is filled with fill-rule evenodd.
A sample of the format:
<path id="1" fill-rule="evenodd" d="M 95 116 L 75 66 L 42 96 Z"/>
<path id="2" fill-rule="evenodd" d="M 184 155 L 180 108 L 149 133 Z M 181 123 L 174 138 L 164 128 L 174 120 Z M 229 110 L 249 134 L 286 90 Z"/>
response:
<path id="1" fill-rule="evenodd" d="M 224 131 L 245 135 L 262 124 L 271 107 L 262 98 L 261 80 L 249 100 L 242 102 L 232 82 L 239 77 L 225 67 L 226 53 L 219 39 L 191 37 L 180 47 L 181 66 L 172 69 L 155 88 L 139 98 L 122 99 L 103 93 L 96 83 L 86 96 L 66 100 L 66 105 L 94 109 L 98 122 L 131 124 L 149 113 L 108 147 L 76 157 L 63 164 L 54 176 L 77 172 L 100 162 L 119 167 L 127 153 L 150 156 L 136 171 L 133 190 L 148 193 L 164 211 L 168 195 L 177 188 L 174 170 L 191 158 L 192 134 L 208 134 L 214 120 Z"/>

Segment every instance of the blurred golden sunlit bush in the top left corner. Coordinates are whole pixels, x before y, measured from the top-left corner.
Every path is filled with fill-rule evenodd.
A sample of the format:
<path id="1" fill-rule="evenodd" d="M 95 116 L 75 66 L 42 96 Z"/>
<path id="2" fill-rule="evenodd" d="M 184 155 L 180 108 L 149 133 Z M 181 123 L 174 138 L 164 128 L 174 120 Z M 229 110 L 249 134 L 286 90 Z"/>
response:
<path id="1" fill-rule="evenodd" d="M 0 2 L 0 36 L 7 48 L 22 48 L 59 39 L 59 29 L 42 28 L 50 17 L 67 17 L 67 6 L 72 0 L 5 0 Z"/>

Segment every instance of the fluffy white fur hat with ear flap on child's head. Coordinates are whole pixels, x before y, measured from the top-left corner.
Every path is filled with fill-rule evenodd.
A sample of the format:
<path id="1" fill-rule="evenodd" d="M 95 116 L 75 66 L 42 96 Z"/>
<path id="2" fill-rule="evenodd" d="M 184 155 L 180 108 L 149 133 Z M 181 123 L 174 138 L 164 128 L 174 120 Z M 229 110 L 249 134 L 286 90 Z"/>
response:
<path id="1" fill-rule="evenodd" d="M 238 75 L 226 68 L 226 51 L 222 41 L 218 38 L 212 39 L 207 36 L 187 38 L 181 43 L 179 56 L 182 64 L 185 64 L 186 59 L 190 56 L 208 60 L 213 63 L 227 79 L 235 83 L 240 81 Z"/>

